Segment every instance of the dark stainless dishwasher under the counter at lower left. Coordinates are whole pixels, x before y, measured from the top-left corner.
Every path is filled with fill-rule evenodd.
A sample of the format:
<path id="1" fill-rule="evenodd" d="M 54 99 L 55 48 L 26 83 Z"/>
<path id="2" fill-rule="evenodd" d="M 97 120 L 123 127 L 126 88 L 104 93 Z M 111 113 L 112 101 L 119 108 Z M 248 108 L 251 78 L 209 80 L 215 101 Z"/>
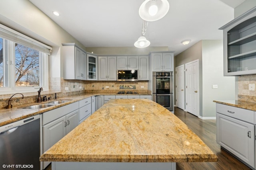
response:
<path id="1" fill-rule="evenodd" d="M 0 169 L 40 169 L 40 115 L 0 127 Z"/>

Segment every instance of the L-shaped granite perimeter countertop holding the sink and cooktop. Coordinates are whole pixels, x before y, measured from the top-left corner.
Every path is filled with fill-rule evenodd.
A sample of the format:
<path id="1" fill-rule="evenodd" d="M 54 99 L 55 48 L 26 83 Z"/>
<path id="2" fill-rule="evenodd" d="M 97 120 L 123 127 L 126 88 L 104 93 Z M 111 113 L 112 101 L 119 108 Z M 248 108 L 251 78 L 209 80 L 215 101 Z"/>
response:
<path id="1" fill-rule="evenodd" d="M 82 94 L 77 94 L 74 96 L 66 96 L 62 98 L 58 98 L 57 100 L 70 100 L 70 102 L 66 102 L 63 104 L 59 104 L 57 106 L 51 106 L 51 107 L 46 107 L 42 109 L 22 109 L 22 107 L 26 106 L 31 106 L 31 105 L 38 105 L 38 104 L 46 104 L 49 102 L 53 102 L 56 100 L 50 100 L 47 102 L 40 102 L 40 103 L 33 103 L 33 104 L 26 104 L 24 106 L 19 106 L 19 107 L 13 107 L 11 109 L 0 109 L 0 126 L 25 119 L 30 116 L 34 116 L 40 113 L 44 113 L 46 111 L 50 111 L 52 109 L 56 109 L 58 107 L 62 107 L 74 102 L 77 102 L 79 100 L 89 98 L 91 96 L 98 96 L 98 95 L 151 95 L 148 93 L 141 93 L 140 94 L 114 94 L 113 92 L 107 92 L 107 93 L 82 93 Z"/>

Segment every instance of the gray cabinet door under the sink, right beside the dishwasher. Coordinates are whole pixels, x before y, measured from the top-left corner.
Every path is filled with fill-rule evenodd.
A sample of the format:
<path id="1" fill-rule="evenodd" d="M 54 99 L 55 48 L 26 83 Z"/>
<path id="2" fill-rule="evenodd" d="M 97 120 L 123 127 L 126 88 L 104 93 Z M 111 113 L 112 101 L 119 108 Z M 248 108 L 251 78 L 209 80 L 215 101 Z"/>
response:
<path id="1" fill-rule="evenodd" d="M 66 135 L 65 121 L 66 116 L 62 116 L 43 126 L 43 152 Z"/>

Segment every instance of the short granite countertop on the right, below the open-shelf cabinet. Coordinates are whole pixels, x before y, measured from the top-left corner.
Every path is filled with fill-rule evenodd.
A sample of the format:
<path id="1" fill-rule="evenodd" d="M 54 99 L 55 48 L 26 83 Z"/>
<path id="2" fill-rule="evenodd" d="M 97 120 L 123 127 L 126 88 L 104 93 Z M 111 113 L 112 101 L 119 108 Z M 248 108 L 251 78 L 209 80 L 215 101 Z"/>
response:
<path id="1" fill-rule="evenodd" d="M 255 102 L 247 102 L 242 100 L 214 100 L 213 102 L 256 111 Z"/>

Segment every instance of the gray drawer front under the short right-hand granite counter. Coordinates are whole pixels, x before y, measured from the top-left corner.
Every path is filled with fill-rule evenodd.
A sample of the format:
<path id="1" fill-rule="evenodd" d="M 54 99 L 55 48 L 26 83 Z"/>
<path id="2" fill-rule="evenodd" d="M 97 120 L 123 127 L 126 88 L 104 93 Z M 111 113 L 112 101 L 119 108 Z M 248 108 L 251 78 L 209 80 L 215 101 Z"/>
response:
<path id="1" fill-rule="evenodd" d="M 254 123 L 254 111 L 224 104 L 216 104 L 216 112 L 242 121 Z"/>

